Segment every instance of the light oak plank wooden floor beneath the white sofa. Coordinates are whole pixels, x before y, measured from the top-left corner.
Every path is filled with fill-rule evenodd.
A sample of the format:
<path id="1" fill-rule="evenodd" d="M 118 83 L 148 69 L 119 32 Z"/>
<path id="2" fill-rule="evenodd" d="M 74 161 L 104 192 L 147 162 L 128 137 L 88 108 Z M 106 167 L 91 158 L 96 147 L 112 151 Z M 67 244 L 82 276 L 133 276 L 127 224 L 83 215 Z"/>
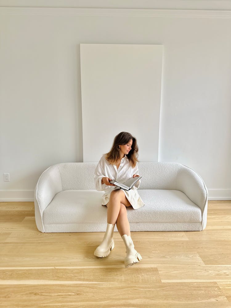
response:
<path id="1" fill-rule="evenodd" d="M 132 232 L 94 256 L 104 233 L 41 233 L 34 202 L 0 202 L 0 307 L 231 307 L 231 201 L 209 201 L 205 230 Z"/>

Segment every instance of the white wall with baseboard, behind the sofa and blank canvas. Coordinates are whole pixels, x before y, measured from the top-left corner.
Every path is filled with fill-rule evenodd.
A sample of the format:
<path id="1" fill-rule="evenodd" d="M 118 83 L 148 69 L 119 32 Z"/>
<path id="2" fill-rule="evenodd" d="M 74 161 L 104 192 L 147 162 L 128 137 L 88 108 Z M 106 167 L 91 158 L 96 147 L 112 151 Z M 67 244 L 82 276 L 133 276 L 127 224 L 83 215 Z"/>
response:
<path id="1" fill-rule="evenodd" d="M 0 31 L 1 201 L 33 201 L 46 168 L 83 161 L 80 43 L 163 45 L 159 161 L 231 198 L 230 11 L 1 7 Z"/>

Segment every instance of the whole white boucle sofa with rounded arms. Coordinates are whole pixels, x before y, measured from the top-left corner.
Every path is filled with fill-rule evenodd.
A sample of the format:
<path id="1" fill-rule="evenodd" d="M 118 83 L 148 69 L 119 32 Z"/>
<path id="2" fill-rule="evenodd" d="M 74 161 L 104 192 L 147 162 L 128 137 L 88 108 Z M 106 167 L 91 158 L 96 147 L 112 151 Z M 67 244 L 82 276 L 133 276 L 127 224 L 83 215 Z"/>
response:
<path id="1" fill-rule="evenodd" d="M 41 174 L 34 190 L 39 231 L 105 232 L 107 207 L 101 205 L 104 191 L 95 190 L 96 165 L 60 163 Z M 196 171 L 173 162 L 140 162 L 138 168 L 145 205 L 127 208 L 131 231 L 205 229 L 208 190 Z"/>

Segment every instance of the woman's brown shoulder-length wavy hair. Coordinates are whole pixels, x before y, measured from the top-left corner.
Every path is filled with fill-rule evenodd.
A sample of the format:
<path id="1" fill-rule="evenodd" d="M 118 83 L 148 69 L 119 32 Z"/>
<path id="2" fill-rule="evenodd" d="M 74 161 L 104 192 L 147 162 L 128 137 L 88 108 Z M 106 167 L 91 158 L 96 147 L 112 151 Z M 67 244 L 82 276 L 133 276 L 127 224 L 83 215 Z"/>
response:
<path id="1" fill-rule="evenodd" d="M 115 136 L 111 150 L 108 153 L 105 153 L 106 160 L 110 164 L 116 164 L 116 162 L 120 160 L 119 145 L 127 144 L 131 139 L 132 139 L 132 149 L 127 154 L 127 157 L 132 168 L 134 168 L 136 166 L 136 163 L 139 162 L 138 160 L 139 148 L 137 145 L 136 138 L 128 132 L 120 132 L 118 135 Z"/>

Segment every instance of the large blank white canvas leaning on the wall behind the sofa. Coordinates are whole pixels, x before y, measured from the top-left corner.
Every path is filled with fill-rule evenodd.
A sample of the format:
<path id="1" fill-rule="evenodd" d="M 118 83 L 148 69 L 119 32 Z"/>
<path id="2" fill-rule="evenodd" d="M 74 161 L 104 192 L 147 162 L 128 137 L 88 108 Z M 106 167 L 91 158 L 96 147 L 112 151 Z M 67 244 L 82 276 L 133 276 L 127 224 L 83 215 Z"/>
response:
<path id="1" fill-rule="evenodd" d="M 139 161 L 158 161 L 162 45 L 80 44 L 83 162 L 98 162 L 119 132 Z"/>

